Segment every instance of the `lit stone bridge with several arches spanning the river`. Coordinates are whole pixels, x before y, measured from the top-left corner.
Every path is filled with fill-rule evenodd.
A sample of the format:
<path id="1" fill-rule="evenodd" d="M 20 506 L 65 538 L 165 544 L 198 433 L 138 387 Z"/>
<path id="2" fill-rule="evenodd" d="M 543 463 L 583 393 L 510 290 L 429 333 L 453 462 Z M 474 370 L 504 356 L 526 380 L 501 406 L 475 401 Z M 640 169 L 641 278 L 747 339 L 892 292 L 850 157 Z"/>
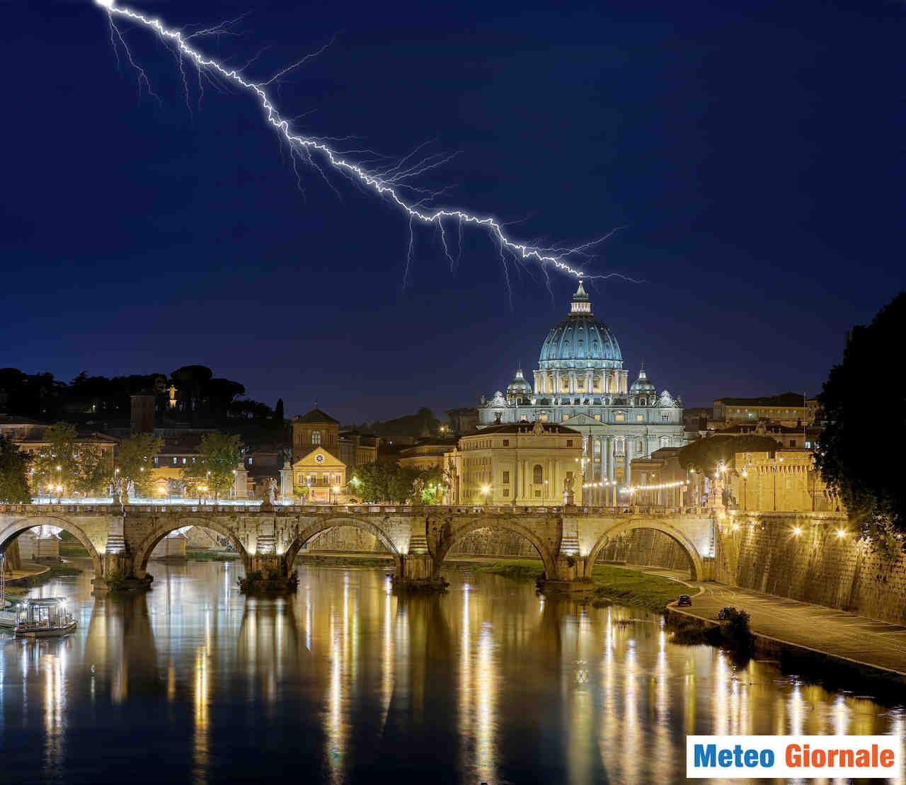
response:
<path id="1" fill-rule="evenodd" d="M 594 560 L 614 537 L 651 528 L 673 538 L 689 557 L 693 579 L 713 577 L 715 518 L 707 508 L 0 505 L 0 552 L 24 530 L 60 527 L 88 549 L 95 588 L 108 578 L 147 575 L 151 551 L 171 531 L 199 526 L 229 538 L 246 572 L 288 575 L 305 543 L 329 528 L 369 532 L 392 554 L 403 583 L 436 581 L 459 539 L 479 528 L 516 532 L 544 562 L 549 581 L 565 589 L 591 577 Z"/>

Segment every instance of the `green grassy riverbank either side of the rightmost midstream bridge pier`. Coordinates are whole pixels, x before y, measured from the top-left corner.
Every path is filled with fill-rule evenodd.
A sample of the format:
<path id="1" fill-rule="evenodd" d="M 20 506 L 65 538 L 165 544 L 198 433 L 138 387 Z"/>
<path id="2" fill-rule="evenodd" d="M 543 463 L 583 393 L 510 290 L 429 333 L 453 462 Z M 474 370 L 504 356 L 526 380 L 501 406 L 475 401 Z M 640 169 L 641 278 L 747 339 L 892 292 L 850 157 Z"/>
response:
<path id="1" fill-rule="evenodd" d="M 478 567 L 477 571 L 513 580 L 535 581 L 543 575 L 544 567 L 539 561 L 512 559 L 497 561 L 487 567 Z M 660 612 L 679 595 L 689 592 L 687 586 L 670 578 L 612 565 L 595 565 L 592 581 L 594 604 L 598 606 L 617 603 Z"/>

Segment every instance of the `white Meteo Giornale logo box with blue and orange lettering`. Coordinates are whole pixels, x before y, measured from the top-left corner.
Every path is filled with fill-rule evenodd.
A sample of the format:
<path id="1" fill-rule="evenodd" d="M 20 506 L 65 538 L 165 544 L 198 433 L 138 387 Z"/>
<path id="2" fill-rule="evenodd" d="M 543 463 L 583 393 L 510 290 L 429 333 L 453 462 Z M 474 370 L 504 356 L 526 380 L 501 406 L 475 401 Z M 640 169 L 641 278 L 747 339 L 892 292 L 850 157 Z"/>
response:
<path id="1" fill-rule="evenodd" d="M 892 778 L 902 773 L 897 736 L 687 736 L 686 776 Z"/>

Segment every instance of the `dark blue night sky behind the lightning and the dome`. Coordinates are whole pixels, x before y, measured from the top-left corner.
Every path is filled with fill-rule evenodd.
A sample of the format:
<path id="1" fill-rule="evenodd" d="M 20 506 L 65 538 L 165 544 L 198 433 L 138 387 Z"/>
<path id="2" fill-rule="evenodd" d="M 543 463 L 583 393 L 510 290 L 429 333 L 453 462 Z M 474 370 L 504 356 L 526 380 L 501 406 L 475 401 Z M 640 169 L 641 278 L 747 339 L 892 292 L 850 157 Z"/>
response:
<path id="1" fill-rule="evenodd" d="M 846 329 L 903 287 L 901 3 L 136 2 L 170 24 L 245 11 L 198 46 L 266 79 L 299 131 L 399 156 L 516 237 L 625 227 L 590 272 L 631 379 L 687 405 L 817 392 Z M 721 7 L 722 6 L 722 7 Z M 741 9 L 741 10 L 740 10 Z M 161 102 L 88 2 L 2 2 L 0 366 L 169 373 L 204 363 L 287 414 L 343 422 L 477 402 L 537 362 L 575 281 L 511 271 L 303 171 L 255 103 L 191 113 L 169 53 L 122 25 Z M 340 145 L 343 146 L 342 144 Z M 529 374 L 530 375 L 530 374 Z"/>

